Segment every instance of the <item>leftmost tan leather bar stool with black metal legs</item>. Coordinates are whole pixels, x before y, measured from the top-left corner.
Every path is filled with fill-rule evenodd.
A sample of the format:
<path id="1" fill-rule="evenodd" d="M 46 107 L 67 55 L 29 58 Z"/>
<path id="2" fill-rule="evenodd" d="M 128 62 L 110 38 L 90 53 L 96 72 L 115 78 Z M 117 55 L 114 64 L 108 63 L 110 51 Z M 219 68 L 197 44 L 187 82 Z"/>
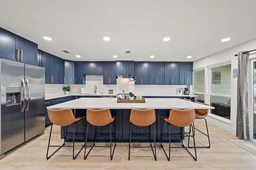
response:
<path id="1" fill-rule="evenodd" d="M 47 113 L 48 113 L 50 121 L 52 122 L 52 125 L 51 125 L 51 130 L 50 130 L 50 137 L 49 137 L 49 142 L 48 142 L 46 159 L 49 159 L 53 154 L 55 154 L 62 147 L 73 147 L 73 155 L 72 155 L 73 160 L 76 159 L 76 156 L 84 148 L 84 145 L 79 150 L 79 152 L 76 154 L 76 156 L 74 156 L 75 125 L 77 125 L 77 122 L 80 121 L 80 120 L 82 120 L 83 125 L 84 125 L 84 120 L 83 120 L 84 117 L 74 117 L 71 109 L 48 109 Z M 68 125 L 72 125 L 72 124 L 73 124 L 73 145 L 72 146 L 66 146 L 65 142 L 66 142 L 66 136 L 68 134 L 65 133 L 65 127 L 67 128 Z M 51 139 L 51 135 L 52 135 L 52 126 L 53 125 L 64 126 L 64 143 L 60 146 L 50 145 L 50 139 Z M 67 129 L 66 129 L 66 131 L 67 131 Z M 84 131 L 84 137 L 85 137 L 85 131 Z M 48 156 L 49 147 L 59 147 L 59 148 L 57 150 L 55 150 L 50 156 Z"/>

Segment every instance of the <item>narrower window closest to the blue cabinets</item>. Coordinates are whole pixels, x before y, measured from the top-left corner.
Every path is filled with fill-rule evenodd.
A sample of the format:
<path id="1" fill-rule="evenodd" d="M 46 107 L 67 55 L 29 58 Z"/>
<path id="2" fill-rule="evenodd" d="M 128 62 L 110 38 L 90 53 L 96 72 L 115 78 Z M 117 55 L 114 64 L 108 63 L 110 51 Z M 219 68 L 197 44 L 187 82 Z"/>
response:
<path id="1" fill-rule="evenodd" d="M 194 94 L 195 102 L 204 103 L 204 69 L 194 71 Z"/>

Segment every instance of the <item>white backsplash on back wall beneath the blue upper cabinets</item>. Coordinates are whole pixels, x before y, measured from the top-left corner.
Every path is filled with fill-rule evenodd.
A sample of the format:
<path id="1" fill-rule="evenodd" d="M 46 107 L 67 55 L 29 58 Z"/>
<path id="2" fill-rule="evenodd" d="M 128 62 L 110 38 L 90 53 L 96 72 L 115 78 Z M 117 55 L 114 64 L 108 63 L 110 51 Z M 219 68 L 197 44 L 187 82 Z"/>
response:
<path id="1" fill-rule="evenodd" d="M 108 94 L 108 90 L 112 89 L 113 94 L 122 94 L 122 90 L 128 93 L 128 82 L 131 79 L 117 79 L 116 84 L 103 84 L 102 75 L 86 75 L 86 84 L 70 84 L 70 94 L 80 94 L 81 88 L 85 88 L 86 94 L 94 94 L 94 86 L 97 86 L 96 94 Z M 45 94 L 63 94 L 63 86 L 68 84 L 45 84 Z M 191 86 L 186 85 L 139 85 L 135 82 L 134 94 L 138 95 L 154 95 L 154 94 L 168 94 L 176 95 L 177 89 L 190 88 Z"/>

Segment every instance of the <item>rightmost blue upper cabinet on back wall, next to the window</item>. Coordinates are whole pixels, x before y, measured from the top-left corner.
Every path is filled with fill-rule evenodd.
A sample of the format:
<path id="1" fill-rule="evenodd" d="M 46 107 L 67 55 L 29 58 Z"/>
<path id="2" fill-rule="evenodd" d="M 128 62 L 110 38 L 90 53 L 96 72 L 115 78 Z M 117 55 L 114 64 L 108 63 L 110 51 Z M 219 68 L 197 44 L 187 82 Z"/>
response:
<path id="1" fill-rule="evenodd" d="M 193 62 L 180 62 L 180 85 L 192 85 Z"/>

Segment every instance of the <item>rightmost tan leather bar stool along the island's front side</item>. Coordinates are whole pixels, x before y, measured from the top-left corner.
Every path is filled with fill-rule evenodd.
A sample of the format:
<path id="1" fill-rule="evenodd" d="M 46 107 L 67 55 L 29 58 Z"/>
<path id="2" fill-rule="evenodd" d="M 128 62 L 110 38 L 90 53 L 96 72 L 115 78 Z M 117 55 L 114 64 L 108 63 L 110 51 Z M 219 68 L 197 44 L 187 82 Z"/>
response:
<path id="1" fill-rule="evenodd" d="M 180 130 L 182 132 L 182 128 L 186 127 L 186 126 L 190 126 L 193 129 L 193 122 L 195 119 L 195 111 L 194 109 L 185 109 L 185 110 L 180 110 L 180 109 L 172 109 L 172 111 L 170 111 L 170 116 L 169 118 L 163 118 L 163 124 L 162 124 L 162 133 L 161 133 L 161 147 L 164 150 L 164 146 L 162 143 L 162 136 L 163 136 L 163 127 L 164 127 L 164 122 L 166 122 L 169 125 L 169 156 L 166 154 L 166 151 L 164 150 L 164 153 L 168 159 L 168 161 L 170 161 L 170 149 L 171 148 L 184 148 L 188 151 L 188 153 L 193 157 L 194 160 L 197 160 L 197 156 L 196 156 L 196 146 L 195 146 L 195 138 L 194 138 L 194 131 L 192 130 L 192 135 L 190 135 L 191 130 L 189 132 L 189 136 L 193 137 L 193 142 L 194 142 L 194 147 L 189 147 L 189 146 L 184 146 L 183 144 L 183 135 L 178 135 L 181 138 L 182 141 L 182 147 L 171 147 L 171 125 L 180 127 Z M 173 134 L 174 136 L 174 134 Z M 177 136 L 175 134 L 175 136 Z M 188 144 L 189 144 L 189 138 L 188 138 Z M 191 154 L 191 152 L 187 149 L 187 148 L 194 148 L 195 151 L 195 156 L 193 156 Z"/>

